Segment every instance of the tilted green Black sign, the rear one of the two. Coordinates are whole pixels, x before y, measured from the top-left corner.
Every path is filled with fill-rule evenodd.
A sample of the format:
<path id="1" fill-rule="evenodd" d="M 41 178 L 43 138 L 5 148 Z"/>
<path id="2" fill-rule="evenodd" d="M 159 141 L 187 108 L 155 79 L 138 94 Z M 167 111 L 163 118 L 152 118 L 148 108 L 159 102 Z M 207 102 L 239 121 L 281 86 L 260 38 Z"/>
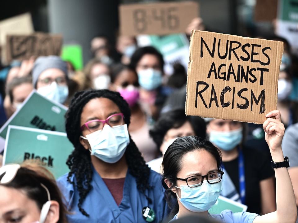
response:
<path id="1" fill-rule="evenodd" d="M 20 109 L 16 110 L 1 127 L 0 152 L 4 149 L 8 125 L 65 132 L 64 115 L 66 111 L 67 107 L 64 105 L 53 102 L 33 90 Z"/>

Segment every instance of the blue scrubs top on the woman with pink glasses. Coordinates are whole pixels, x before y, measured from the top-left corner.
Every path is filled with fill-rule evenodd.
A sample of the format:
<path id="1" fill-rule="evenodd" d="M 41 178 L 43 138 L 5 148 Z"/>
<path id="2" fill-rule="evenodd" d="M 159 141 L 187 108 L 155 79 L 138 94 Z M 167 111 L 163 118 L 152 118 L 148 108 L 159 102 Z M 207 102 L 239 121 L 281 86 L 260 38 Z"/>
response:
<path id="1" fill-rule="evenodd" d="M 151 170 L 148 181 L 153 188 L 145 191 L 145 194 L 151 198 L 152 203 L 149 203 L 145 195 L 138 191 L 136 179 L 128 170 L 124 181 L 123 199 L 118 206 L 106 184 L 93 168 L 91 182 L 93 188 L 82 205 L 82 208 L 90 215 L 89 217 L 84 216 L 79 211 L 79 192 L 76 187 L 67 181 L 67 176 L 68 173 L 64 174 L 57 182 L 65 197 L 65 205 L 68 211 L 72 212 L 67 216 L 69 222 L 147 222 L 142 217 L 142 209 L 146 206 L 152 208 L 155 212 L 155 221 L 153 222 L 160 222 L 168 215 L 169 211 L 164 198 L 164 190 L 161 186 L 161 177 L 159 173 L 153 170 Z M 71 181 L 74 178 L 74 175 L 72 175 Z"/>

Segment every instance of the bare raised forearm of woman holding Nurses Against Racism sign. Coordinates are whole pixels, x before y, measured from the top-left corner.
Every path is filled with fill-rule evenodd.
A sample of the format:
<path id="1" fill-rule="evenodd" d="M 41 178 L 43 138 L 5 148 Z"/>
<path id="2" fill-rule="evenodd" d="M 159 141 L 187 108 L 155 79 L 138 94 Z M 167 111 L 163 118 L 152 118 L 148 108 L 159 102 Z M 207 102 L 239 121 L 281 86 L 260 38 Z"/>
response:
<path id="1" fill-rule="evenodd" d="M 271 151 L 271 150 L 270 150 Z M 283 162 L 282 150 L 271 151 L 272 160 Z M 297 217 L 296 200 L 291 179 L 286 167 L 275 169 L 277 222 L 295 222 Z"/>

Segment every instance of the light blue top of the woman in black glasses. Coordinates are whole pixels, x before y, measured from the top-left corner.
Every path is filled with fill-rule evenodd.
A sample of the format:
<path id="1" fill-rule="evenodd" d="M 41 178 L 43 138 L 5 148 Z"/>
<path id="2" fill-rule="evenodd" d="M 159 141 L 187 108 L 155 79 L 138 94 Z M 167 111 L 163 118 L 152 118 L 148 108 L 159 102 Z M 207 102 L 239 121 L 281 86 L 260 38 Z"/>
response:
<path id="1" fill-rule="evenodd" d="M 231 210 L 224 210 L 220 214 L 209 215 L 210 218 L 214 218 L 223 223 L 252 223 L 258 214 L 249 212 L 237 212 L 233 213 Z M 171 221 L 178 219 L 177 215 Z M 170 221 L 170 222 L 171 222 Z"/>

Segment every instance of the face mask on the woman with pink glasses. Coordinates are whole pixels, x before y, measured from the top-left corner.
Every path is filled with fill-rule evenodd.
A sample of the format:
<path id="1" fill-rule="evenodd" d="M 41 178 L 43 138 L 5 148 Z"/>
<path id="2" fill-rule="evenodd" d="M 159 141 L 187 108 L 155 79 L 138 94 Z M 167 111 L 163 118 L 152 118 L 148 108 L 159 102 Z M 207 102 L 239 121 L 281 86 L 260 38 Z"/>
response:
<path id="1" fill-rule="evenodd" d="M 91 155 L 106 163 L 116 163 L 123 156 L 129 144 L 129 133 L 127 125 L 111 127 L 105 125 L 102 130 L 86 135 L 91 146 Z"/>

